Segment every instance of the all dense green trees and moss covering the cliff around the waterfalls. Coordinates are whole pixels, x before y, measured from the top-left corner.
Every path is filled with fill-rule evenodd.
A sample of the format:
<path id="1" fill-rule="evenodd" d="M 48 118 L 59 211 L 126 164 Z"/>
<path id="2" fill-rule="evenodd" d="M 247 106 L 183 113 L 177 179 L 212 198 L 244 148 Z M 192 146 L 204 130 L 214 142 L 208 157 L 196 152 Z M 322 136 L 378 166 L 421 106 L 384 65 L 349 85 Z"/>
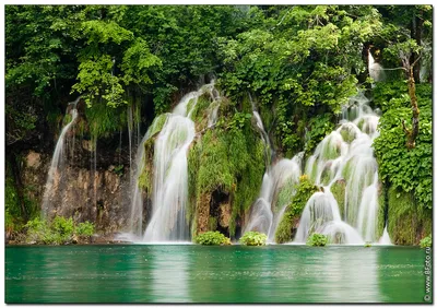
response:
<path id="1" fill-rule="evenodd" d="M 276 155 L 292 157 L 311 153 L 335 127 L 342 104 L 363 90 L 382 114 L 374 144 L 388 208 L 381 216 L 388 213 L 397 242 L 417 244 L 432 220 L 432 13 L 430 5 L 7 5 L 7 230 L 39 214 L 32 188 L 21 185 L 22 156 L 52 149 L 68 102 L 79 95 L 86 102 L 81 138 L 110 143 L 131 129 L 129 115 L 145 131 L 184 93 L 214 78 L 226 96 L 218 121 L 189 152 L 193 235 L 218 229 L 235 236 L 259 192 L 264 147 L 251 103 Z M 373 87 L 369 51 L 387 69 Z M 204 106 L 194 112 L 198 131 L 205 127 Z M 406 132 L 416 122 L 409 149 Z M 150 191 L 147 170 L 141 183 Z M 300 179 L 276 241 L 292 237 L 315 189 Z M 210 217 L 215 210 L 204 208 L 211 196 L 221 206 L 232 203 L 222 225 Z M 418 217 L 414 232 L 400 229 L 405 217 Z M 52 228 L 42 224 L 27 228 Z"/>

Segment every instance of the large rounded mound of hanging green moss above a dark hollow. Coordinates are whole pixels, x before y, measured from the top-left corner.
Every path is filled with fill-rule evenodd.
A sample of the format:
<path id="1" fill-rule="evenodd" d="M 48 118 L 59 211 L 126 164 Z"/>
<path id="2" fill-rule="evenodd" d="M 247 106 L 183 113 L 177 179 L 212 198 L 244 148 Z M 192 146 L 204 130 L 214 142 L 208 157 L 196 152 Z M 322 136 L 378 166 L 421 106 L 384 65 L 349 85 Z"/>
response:
<path id="1" fill-rule="evenodd" d="M 233 216 L 241 215 L 256 199 L 264 171 L 263 144 L 249 130 L 208 130 L 188 155 L 191 213 L 200 198 L 216 189 L 232 196 Z M 192 196 L 196 198 L 192 198 Z M 194 201 L 196 200 L 196 201 Z M 229 226 L 235 234 L 235 225 Z"/>

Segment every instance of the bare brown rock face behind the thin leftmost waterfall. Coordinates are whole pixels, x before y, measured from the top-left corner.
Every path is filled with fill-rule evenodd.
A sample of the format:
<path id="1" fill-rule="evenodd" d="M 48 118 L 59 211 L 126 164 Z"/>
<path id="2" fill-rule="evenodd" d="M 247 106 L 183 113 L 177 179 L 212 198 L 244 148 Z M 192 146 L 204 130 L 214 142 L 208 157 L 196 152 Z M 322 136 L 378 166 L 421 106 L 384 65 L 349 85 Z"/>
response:
<path id="1" fill-rule="evenodd" d="M 105 159 L 106 157 L 98 157 L 97 152 L 94 169 L 94 154 L 86 144 L 78 140 L 73 158 L 56 173 L 55 189 L 49 194 L 49 216 L 73 217 L 78 223 L 92 222 L 96 232 L 103 235 L 122 232 L 130 215 L 129 163 L 126 164 L 125 161 L 125 164 L 109 165 L 120 159 Z M 102 150 L 102 156 L 108 152 Z M 29 151 L 24 157 L 21 166 L 24 193 L 40 206 L 51 157 L 34 151 Z"/>

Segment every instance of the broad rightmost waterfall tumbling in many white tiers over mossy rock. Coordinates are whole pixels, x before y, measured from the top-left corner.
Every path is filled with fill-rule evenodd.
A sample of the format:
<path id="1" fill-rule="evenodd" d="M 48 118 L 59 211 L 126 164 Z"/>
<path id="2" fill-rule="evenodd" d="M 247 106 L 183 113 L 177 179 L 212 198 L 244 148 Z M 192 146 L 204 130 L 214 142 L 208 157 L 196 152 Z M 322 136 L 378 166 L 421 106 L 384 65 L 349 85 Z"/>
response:
<path id="1" fill-rule="evenodd" d="M 307 159 L 305 173 L 323 191 L 305 205 L 296 242 L 305 242 L 314 232 L 328 235 L 335 244 L 377 241 L 379 179 L 371 144 L 378 135 L 378 121 L 362 93 L 343 106 L 339 128 Z M 335 200 L 331 192 L 336 182 L 345 183 L 344 200 Z M 344 201 L 343 217 L 338 201 Z"/>

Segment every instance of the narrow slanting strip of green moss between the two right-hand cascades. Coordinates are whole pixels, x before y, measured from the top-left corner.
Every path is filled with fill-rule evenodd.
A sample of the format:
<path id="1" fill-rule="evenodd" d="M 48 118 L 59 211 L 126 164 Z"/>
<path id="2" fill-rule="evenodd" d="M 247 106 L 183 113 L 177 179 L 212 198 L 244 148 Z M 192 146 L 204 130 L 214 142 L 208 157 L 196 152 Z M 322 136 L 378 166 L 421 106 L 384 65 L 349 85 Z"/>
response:
<path id="1" fill-rule="evenodd" d="M 308 176 L 303 175 L 299 178 L 299 183 L 296 188 L 296 194 L 293 197 L 292 202 L 286 208 L 285 213 L 277 225 L 274 239 L 277 244 L 283 244 L 292 240 L 293 229 L 304 211 L 305 204 L 308 199 L 318 191 L 318 187 L 315 186 Z"/>

